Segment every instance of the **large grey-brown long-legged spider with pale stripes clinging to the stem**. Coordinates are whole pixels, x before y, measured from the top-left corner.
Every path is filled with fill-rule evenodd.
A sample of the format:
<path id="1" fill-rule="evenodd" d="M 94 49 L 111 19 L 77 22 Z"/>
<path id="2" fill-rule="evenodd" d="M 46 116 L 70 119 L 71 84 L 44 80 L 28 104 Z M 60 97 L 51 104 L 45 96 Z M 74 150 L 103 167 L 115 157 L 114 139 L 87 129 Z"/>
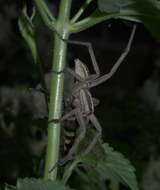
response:
<path id="1" fill-rule="evenodd" d="M 92 97 L 90 93 L 90 88 L 107 81 L 117 71 L 118 67 L 129 53 L 135 35 L 135 30 L 136 25 L 133 26 L 129 41 L 124 52 L 121 54 L 114 66 L 111 68 L 110 72 L 103 76 L 100 76 L 100 70 L 91 43 L 62 39 L 64 42 L 83 45 L 88 48 L 95 74 L 89 74 L 87 66 L 84 63 L 82 63 L 79 59 L 75 60 L 75 71 L 70 68 L 66 68 L 67 71 L 71 75 L 73 75 L 76 80 L 70 98 L 70 105 L 72 107 L 72 110 L 69 113 L 66 113 L 64 116 L 62 116 L 60 120 L 77 120 L 80 127 L 80 133 L 76 137 L 75 142 L 69 150 L 67 156 L 65 156 L 62 160 L 58 161 L 50 171 L 52 171 L 57 166 L 65 164 L 69 160 L 88 154 L 96 144 L 97 140 L 101 137 L 102 128 L 94 114 L 94 108 L 98 104 L 98 101 Z M 54 119 L 50 120 L 49 122 L 54 122 Z M 84 150 L 78 155 L 75 155 L 79 143 L 85 137 L 86 126 L 89 122 L 97 130 L 97 133 L 88 145 L 88 147 L 86 148 L 86 150 Z"/>

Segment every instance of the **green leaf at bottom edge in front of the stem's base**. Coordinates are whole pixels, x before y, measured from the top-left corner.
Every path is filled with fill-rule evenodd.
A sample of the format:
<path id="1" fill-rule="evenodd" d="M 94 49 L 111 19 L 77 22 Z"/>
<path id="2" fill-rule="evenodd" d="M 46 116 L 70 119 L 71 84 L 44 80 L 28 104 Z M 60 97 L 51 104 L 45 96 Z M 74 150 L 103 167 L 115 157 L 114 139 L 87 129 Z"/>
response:
<path id="1" fill-rule="evenodd" d="M 51 181 L 35 178 L 19 179 L 17 190 L 73 190 L 60 181 Z"/>

